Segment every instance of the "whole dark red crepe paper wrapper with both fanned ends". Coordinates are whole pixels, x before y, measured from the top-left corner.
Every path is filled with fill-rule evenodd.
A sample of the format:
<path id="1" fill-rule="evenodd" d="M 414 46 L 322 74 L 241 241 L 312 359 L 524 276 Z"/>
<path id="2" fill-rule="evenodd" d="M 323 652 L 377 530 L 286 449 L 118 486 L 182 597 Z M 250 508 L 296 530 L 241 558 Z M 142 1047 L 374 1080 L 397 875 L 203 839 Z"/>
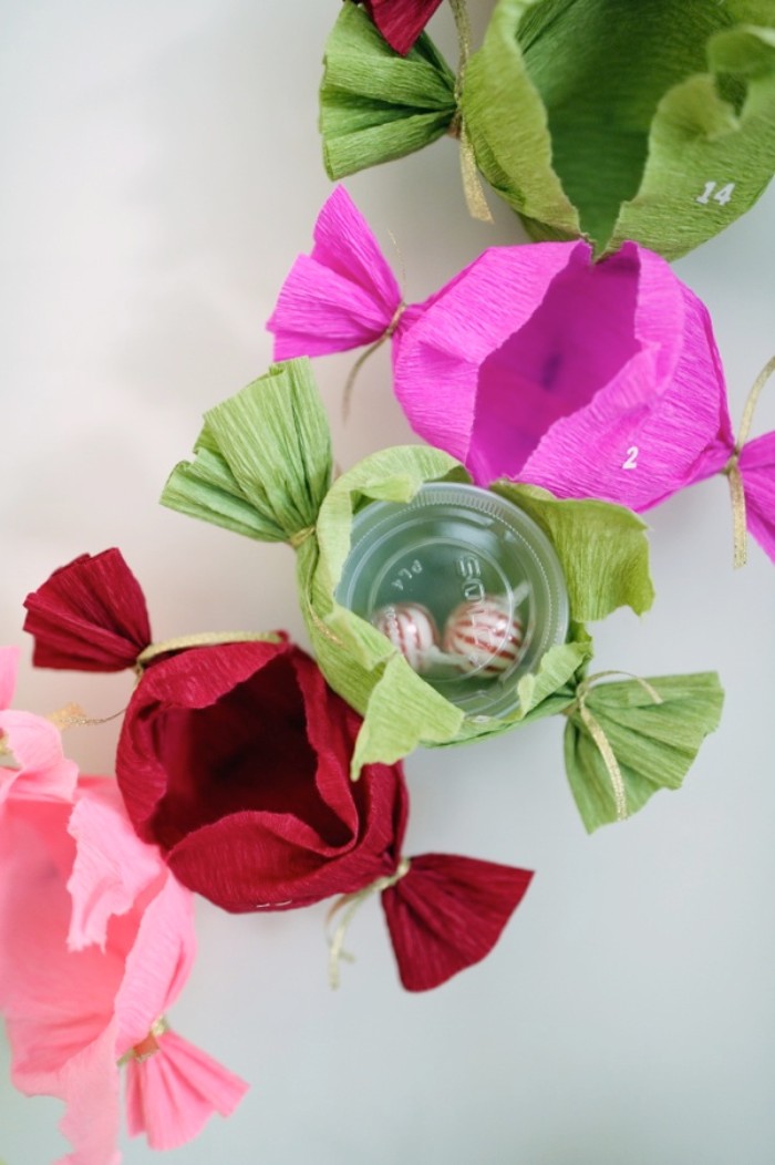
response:
<path id="1" fill-rule="evenodd" d="M 34 658 L 48 666 L 118 670 L 149 642 L 142 592 L 118 550 L 77 558 L 26 606 Z M 225 910 L 357 894 L 396 873 L 409 807 L 400 764 L 367 765 L 351 782 L 360 723 L 286 636 L 162 655 L 126 712 L 119 788 L 138 834 Z M 427 990 L 484 959 L 531 876 L 446 854 L 413 859 L 382 892 L 403 986 Z"/>

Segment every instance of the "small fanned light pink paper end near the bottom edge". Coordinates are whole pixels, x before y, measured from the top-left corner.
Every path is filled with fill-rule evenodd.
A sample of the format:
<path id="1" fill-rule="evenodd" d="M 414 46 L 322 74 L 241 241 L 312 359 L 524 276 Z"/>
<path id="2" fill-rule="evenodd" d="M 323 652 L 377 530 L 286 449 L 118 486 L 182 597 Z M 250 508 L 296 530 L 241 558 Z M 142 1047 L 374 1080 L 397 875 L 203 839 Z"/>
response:
<path id="1" fill-rule="evenodd" d="M 247 1085 L 186 1039 L 167 1031 L 158 1051 L 127 1065 L 127 1127 L 152 1149 L 177 1149 L 196 1137 L 213 1113 L 230 1116 Z"/>

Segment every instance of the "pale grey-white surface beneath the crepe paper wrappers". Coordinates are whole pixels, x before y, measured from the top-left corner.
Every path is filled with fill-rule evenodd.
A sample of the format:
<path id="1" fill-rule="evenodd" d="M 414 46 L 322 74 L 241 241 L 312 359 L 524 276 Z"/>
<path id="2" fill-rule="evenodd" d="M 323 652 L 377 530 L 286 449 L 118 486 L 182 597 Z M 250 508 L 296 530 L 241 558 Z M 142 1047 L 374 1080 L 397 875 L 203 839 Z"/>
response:
<path id="1" fill-rule="evenodd" d="M 286 627 L 303 640 L 293 553 L 164 510 L 202 412 L 262 373 L 280 284 L 330 190 L 316 133 L 334 0 L 0 0 L 0 642 L 23 644 L 17 707 L 115 712 L 131 678 L 36 673 L 21 603 L 50 571 L 122 549 L 156 638 Z M 491 5 L 472 5 L 477 22 Z M 446 12 L 435 20 L 452 54 Z M 353 178 L 410 301 L 493 242 L 471 221 L 455 146 Z M 709 304 L 732 415 L 775 351 L 775 190 L 677 264 Z M 317 362 L 343 466 L 411 439 L 388 356 L 339 400 L 352 356 Z M 772 394 L 756 431 L 775 426 Z M 718 479 L 649 515 L 654 609 L 598 631 L 596 668 L 718 669 L 721 729 L 685 788 L 587 838 L 543 721 L 407 764 L 407 853 L 537 871 L 499 946 L 435 993 L 402 991 L 376 903 L 358 960 L 326 983 L 323 906 L 198 911 L 200 954 L 171 1023 L 247 1079 L 227 1122 L 170 1153 L 190 1165 L 766 1165 L 775 1159 L 773 973 L 775 566 L 731 567 Z M 117 727 L 73 729 L 86 771 Z M 61 1106 L 0 1059 L 0 1157 L 66 1146 Z M 127 1143 L 127 1163 L 155 1155 Z"/>

